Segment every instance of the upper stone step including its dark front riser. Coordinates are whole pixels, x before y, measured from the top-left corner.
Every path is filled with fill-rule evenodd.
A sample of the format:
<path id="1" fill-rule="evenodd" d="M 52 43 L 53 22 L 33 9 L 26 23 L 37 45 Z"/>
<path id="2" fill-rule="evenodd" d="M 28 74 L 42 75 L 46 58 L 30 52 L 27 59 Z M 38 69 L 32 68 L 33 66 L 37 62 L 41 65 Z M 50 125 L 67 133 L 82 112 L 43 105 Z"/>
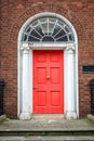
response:
<path id="1" fill-rule="evenodd" d="M 94 136 L 94 124 L 88 119 L 5 120 L 0 125 L 0 137 L 8 136 Z"/>

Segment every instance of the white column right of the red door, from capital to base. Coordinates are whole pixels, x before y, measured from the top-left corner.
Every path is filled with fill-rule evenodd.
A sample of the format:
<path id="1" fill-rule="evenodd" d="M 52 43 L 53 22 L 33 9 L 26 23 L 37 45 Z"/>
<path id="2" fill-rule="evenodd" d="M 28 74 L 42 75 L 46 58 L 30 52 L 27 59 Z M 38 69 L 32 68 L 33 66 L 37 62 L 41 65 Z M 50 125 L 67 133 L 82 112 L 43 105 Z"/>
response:
<path id="1" fill-rule="evenodd" d="M 77 118 L 75 93 L 75 47 L 68 44 L 67 51 L 67 113 L 66 118 Z"/>

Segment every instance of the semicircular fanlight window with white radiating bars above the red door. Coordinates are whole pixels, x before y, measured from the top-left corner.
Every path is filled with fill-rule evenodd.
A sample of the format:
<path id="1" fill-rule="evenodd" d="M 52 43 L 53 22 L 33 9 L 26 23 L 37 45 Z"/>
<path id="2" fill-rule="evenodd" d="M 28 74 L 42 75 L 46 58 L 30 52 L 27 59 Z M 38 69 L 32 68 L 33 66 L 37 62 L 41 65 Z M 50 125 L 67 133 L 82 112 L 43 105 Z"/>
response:
<path id="1" fill-rule="evenodd" d="M 29 42 L 59 42 L 73 41 L 73 34 L 69 26 L 56 17 L 41 17 L 25 29 L 23 41 Z"/>

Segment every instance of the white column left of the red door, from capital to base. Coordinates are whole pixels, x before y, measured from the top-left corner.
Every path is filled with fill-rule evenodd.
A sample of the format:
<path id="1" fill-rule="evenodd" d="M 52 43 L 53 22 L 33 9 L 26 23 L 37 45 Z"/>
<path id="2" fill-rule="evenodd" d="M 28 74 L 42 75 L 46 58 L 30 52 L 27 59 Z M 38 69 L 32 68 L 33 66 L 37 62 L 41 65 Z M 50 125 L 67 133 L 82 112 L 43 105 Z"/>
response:
<path id="1" fill-rule="evenodd" d="M 22 80 L 22 113 L 19 119 L 30 119 L 31 114 L 29 110 L 29 47 L 28 44 L 23 44 L 21 48 L 23 52 L 23 80 Z"/>

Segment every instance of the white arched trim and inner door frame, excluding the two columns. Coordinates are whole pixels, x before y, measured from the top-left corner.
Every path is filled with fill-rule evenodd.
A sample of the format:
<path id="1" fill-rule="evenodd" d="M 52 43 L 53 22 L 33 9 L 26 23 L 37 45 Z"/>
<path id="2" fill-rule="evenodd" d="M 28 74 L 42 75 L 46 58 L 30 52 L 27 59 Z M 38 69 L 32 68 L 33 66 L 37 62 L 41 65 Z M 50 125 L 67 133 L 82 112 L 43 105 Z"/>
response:
<path id="1" fill-rule="evenodd" d="M 73 42 L 73 46 L 75 46 L 75 50 L 76 50 L 76 56 L 75 56 L 75 74 L 76 74 L 76 98 L 77 98 L 77 104 L 76 104 L 76 111 L 77 111 L 77 116 L 79 117 L 79 92 L 78 92 L 78 39 L 77 39 L 77 33 L 73 28 L 73 26 L 71 25 L 71 23 L 66 20 L 65 17 L 63 17 L 62 15 L 58 15 L 56 13 L 52 13 L 52 12 L 44 12 L 44 13 L 39 13 L 32 17 L 30 17 L 29 20 L 26 21 L 26 23 L 22 26 L 21 30 L 19 30 L 19 34 L 18 34 L 18 49 L 17 49 L 17 62 L 18 62 L 18 67 L 17 67 L 17 116 L 19 117 L 21 113 L 22 113 L 22 69 L 23 69 L 23 66 L 22 66 L 22 61 L 23 61 L 23 55 L 22 55 L 22 51 L 21 51 L 21 48 L 23 46 L 25 46 L 24 42 L 22 42 L 22 36 L 24 34 L 24 30 L 26 29 L 26 27 L 28 26 L 28 24 L 30 22 L 32 22 L 33 20 L 36 18 L 39 18 L 41 16 L 56 16 L 56 17 L 59 17 L 62 18 L 65 23 L 67 23 L 69 25 L 69 27 L 72 29 L 72 33 L 75 35 L 75 42 Z M 65 73 L 65 78 L 64 78 L 64 84 L 65 84 L 65 114 L 67 112 L 67 53 L 66 53 L 66 50 L 65 48 L 67 48 L 69 44 L 72 44 L 72 42 L 61 42 L 61 43 L 27 43 L 27 46 L 30 48 L 30 51 L 29 51 L 29 64 L 32 65 L 32 51 L 31 50 L 64 50 L 64 73 Z M 29 65 L 29 70 L 28 73 L 30 74 L 29 75 L 29 92 L 30 94 L 32 93 L 32 79 L 30 79 L 32 77 L 32 66 Z M 32 102 L 32 99 L 31 97 L 28 99 L 28 102 Z M 31 111 L 32 113 L 32 106 L 31 106 Z M 30 114 L 31 114 L 30 113 Z"/>

